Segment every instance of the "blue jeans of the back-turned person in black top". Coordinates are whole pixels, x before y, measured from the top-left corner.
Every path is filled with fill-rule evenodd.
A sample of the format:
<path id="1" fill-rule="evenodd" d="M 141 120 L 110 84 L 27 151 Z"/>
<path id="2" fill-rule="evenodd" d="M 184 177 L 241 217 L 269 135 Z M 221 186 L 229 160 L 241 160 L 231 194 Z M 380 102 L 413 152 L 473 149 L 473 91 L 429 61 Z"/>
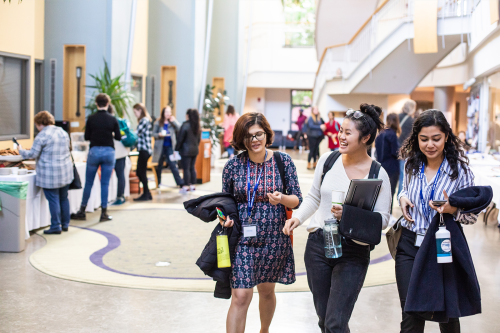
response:
<path id="1" fill-rule="evenodd" d="M 108 191 L 111 173 L 115 167 L 115 149 L 113 147 L 92 147 L 87 157 L 85 172 L 85 188 L 83 189 L 82 206 L 87 206 L 90 192 L 94 185 L 95 175 L 101 167 L 101 207 L 108 207 Z"/>

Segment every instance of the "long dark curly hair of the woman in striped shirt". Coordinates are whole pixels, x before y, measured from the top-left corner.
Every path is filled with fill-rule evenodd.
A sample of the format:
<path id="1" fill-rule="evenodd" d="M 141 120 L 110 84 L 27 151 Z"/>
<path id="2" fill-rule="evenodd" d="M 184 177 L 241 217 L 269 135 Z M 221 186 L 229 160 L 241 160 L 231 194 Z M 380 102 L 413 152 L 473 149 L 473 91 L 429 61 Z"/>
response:
<path id="1" fill-rule="evenodd" d="M 467 169 L 469 159 L 465 156 L 462 149 L 463 144 L 458 137 L 453 134 L 450 124 L 439 110 L 427 110 L 422 112 L 413 124 L 410 136 L 403 142 L 403 146 L 399 150 L 400 158 L 408 159 L 406 162 L 405 171 L 407 175 L 416 176 L 420 171 L 422 163 L 427 163 L 427 157 L 420 151 L 418 145 L 418 134 L 423 127 L 437 126 L 440 131 L 447 137 L 444 143 L 444 156 L 448 160 L 451 167 L 450 178 L 452 180 L 458 177 L 458 164 L 462 169 Z"/>

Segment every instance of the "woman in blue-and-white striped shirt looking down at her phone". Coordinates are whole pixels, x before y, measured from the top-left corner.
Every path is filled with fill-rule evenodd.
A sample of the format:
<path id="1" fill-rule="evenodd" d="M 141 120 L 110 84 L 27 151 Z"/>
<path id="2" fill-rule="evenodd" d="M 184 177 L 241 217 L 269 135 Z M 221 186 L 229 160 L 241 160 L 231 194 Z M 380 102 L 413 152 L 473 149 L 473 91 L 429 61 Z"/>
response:
<path id="1" fill-rule="evenodd" d="M 396 252 L 396 282 L 402 310 L 401 333 L 423 333 L 425 327 L 424 319 L 404 312 L 413 263 L 420 249 L 420 245 L 416 244 L 417 234 L 426 234 L 436 213 L 452 214 L 455 221 L 461 224 L 474 224 L 477 221 L 477 214 L 464 214 L 448 201 L 449 195 L 474 186 L 474 174 L 468 166 L 469 159 L 461 147 L 462 143 L 453 134 L 443 113 L 438 110 L 424 111 L 413 126 L 411 136 L 400 149 L 401 156 L 407 161 L 403 191 L 398 196 L 403 211 L 403 229 Z M 446 203 L 436 207 L 434 200 Z M 435 301 L 444 303 L 439 297 L 443 295 L 436 293 L 434 298 L 438 299 Z M 450 318 L 447 323 L 439 323 L 439 328 L 441 332 L 459 333 L 460 321 Z"/>

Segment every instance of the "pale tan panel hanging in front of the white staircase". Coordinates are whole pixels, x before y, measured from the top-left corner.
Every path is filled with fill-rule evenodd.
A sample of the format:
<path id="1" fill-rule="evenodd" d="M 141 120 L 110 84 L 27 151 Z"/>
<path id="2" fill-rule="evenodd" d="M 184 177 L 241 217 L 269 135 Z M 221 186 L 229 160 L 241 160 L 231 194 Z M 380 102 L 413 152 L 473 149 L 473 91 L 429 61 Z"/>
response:
<path id="1" fill-rule="evenodd" d="M 413 16 L 413 28 L 415 37 L 413 39 L 414 52 L 437 53 L 437 0 L 415 1 Z"/>

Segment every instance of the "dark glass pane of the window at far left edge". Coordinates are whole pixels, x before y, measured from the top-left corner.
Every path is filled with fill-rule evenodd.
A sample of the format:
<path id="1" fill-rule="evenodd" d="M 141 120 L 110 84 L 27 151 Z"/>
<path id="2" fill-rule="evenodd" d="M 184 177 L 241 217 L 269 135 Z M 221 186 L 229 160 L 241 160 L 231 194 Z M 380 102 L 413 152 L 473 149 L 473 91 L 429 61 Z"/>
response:
<path id="1" fill-rule="evenodd" d="M 29 138 L 29 58 L 0 54 L 0 140 Z"/>

